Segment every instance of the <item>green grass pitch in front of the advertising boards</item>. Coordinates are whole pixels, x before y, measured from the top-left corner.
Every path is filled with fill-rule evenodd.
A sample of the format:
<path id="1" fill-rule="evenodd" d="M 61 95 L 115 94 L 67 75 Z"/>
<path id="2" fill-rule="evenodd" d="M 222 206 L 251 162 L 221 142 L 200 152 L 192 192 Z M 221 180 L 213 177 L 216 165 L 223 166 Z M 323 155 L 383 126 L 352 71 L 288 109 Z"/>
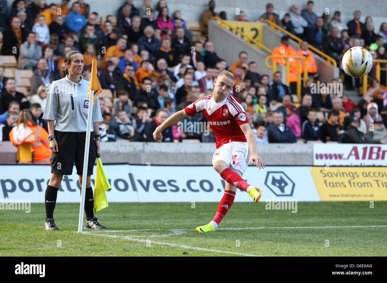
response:
<path id="1" fill-rule="evenodd" d="M 44 230 L 45 206 L 31 204 L 30 213 L 0 211 L 0 256 L 387 255 L 386 201 L 374 208 L 298 202 L 297 213 L 265 205 L 234 203 L 218 229 L 204 234 L 195 228 L 212 220 L 218 203 L 110 203 L 96 213 L 108 230 L 79 234 L 79 203 L 57 204 L 60 231 Z"/>

